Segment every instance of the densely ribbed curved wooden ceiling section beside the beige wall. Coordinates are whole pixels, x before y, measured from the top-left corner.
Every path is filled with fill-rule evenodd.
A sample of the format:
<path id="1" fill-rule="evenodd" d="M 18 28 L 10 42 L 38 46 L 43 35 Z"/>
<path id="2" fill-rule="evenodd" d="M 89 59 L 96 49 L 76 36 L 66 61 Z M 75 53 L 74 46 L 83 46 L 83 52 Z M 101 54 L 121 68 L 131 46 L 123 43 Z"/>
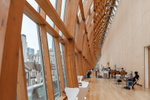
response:
<path id="1" fill-rule="evenodd" d="M 93 45 L 97 59 L 101 56 L 101 48 L 110 28 L 119 0 L 94 0 Z"/>

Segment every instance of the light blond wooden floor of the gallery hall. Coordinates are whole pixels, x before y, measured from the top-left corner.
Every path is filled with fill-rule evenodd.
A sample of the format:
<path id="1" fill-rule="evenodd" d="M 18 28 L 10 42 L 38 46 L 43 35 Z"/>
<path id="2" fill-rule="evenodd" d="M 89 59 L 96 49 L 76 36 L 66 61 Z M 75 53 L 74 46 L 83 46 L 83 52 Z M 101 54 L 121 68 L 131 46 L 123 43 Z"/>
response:
<path id="1" fill-rule="evenodd" d="M 123 89 L 124 84 L 116 85 L 114 79 L 90 79 L 90 91 L 86 100 L 150 100 L 150 90 L 136 86 L 135 90 Z"/>

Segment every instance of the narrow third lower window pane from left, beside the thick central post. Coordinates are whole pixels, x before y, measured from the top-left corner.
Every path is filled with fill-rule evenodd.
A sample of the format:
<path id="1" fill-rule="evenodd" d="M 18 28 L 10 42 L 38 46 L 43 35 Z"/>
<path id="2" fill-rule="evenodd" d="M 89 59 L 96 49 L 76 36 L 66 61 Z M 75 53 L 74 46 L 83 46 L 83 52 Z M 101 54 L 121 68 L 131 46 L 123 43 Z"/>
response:
<path id="1" fill-rule="evenodd" d="M 63 45 L 60 43 L 60 52 L 61 52 L 61 59 L 62 59 L 62 67 L 63 67 L 63 73 L 64 73 L 64 82 L 65 82 L 65 87 L 68 87 L 68 82 L 67 82 L 67 73 L 66 73 L 66 65 L 65 65 L 65 55 L 63 51 Z"/>

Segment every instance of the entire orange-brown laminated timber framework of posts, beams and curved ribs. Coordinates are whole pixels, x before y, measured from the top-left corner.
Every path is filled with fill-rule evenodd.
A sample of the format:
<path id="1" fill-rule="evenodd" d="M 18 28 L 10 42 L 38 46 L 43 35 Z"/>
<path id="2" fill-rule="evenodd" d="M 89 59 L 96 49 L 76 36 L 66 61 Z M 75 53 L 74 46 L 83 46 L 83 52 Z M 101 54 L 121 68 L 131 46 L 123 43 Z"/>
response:
<path id="1" fill-rule="evenodd" d="M 50 0 L 35 0 L 37 12 L 28 0 L 0 1 L 0 100 L 28 100 L 25 64 L 21 41 L 23 14 L 40 28 L 42 55 L 49 100 L 55 100 L 47 33 L 54 37 L 62 97 L 65 98 L 60 43 L 63 45 L 69 87 L 78 87 L 77 75 L 94 69 L 119 0 L 67 0 L 65 22 L 61 19 L 63 0 L 57 9 Z M 46 16 L 55 24 L 52 27 Z M 59 31 L 63 35 L 59 34 Z M 34 39 L 34 37 L 33 37 Z"/>

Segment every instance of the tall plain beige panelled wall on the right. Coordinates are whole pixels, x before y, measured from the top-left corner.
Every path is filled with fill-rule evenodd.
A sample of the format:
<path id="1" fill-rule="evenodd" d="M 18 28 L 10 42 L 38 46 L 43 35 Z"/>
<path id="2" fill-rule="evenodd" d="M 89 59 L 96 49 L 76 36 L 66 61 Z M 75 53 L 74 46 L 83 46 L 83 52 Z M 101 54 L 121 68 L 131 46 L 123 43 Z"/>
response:
<path id="1" fill-rule="evenodd" d="M 102 47 L 100 65 L 138 71 L 144 85 L 144 47 L 150 44 L 150 0 L 120 0 Z M 143 68 L 142 68 L 143 67 Z"/>

